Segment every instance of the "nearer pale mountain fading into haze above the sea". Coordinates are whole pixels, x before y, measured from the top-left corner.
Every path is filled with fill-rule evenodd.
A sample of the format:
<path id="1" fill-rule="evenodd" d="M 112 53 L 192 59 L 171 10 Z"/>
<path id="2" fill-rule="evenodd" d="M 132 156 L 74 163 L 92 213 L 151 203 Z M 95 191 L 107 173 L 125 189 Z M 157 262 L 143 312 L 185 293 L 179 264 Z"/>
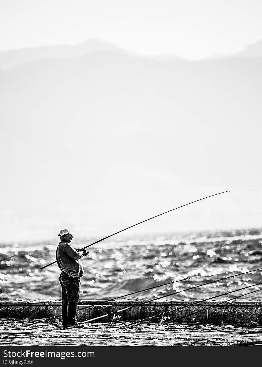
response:
<path id="1" fill-rule="evenodd" d="M 259 57 L 193 62 L 93 50 L 2 71 L 3 230 L 30 226 L 32 234 L 71 218 L 107 232 L 205 187 L 259 186 L 261 89 Z M 192 206 L 175 223 L 165 217 L 163 228 L 234 226 L 243 217 L 255 225 L 257 200 L 228 200 L 215 210 Z"/>

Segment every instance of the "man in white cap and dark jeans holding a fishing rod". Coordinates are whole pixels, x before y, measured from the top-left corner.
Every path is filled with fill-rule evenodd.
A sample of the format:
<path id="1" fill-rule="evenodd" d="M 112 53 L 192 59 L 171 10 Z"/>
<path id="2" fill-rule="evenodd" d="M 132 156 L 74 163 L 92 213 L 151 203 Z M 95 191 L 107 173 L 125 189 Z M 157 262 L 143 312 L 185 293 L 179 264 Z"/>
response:
<path id="1" fill-rule="evenodd" d="M 74 233 L 70 229 L 61 229 L 57 247 L 57 265 L 61 270 L 59 282 L 62 287 L 62 328 L 82 328 L 76 320 L 77 302 L 80 293 L 80 277 L 84 274 L 82 256 L 88 255 L 85 249 L 74 249 L 70 244 Z M 83 252 L 83 253 L 81 253 Z"/>

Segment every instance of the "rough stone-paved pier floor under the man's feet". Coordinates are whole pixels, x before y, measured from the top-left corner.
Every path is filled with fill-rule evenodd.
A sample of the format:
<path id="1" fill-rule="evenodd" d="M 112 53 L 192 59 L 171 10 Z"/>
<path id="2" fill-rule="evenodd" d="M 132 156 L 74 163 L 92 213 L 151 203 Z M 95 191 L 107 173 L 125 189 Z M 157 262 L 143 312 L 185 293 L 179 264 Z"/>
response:
<path id="1" fill-rule="evenodd" d="M 0 319 L 1 346 L 262 346 L 262 327 L 226 324 L 92 323 L 80 330 L 61 324 Z"/>

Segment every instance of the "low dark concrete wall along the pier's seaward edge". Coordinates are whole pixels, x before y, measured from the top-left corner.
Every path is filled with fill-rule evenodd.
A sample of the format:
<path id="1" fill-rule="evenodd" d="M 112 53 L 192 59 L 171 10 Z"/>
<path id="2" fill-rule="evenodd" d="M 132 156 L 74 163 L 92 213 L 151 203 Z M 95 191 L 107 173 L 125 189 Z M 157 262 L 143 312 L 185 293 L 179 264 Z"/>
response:
<path id="1" fill-rule="evenodd" d="M 203 322 L 203 323 L 248 323 L 254 321 L 262 314 L 262 301 L 259 302 L 239 302 L 230 301 L 222 305 L 217 305 L 220 301 L 201 302 L 193 305 L 196 300 L 190 301 L 155 301 L 148 302 L 145 305 L 138 305 L 142 301 L 110 301 L 105 300 L 88 300 L 80 301 L 78 306 L 77 317 L 84 321 L 94 317 L 105 315 L 106 313 L 120 310 L 129 306 L 132 308 L 125 310 L 119 315 L 122 321 L 131 321 L 143 319 L 153 316 L 157 313 L 162 313 L 171 309 L 178 309 L 182 306 L 185 308 L 174 310 L 166 316 L 172 319 L 187 315 L 188 313 L 200 311 L 201 309 L 212 306 L 209 310 L 196 313 L 188 318 L 183 319 L 183 322 Z M 90 308 L 83 309 L 86 306 Z M 82 310 L 83 309 L 83 310 Z M 36 319 L 58 316 L 61 314 L 61 301 L 1 301 L 0 302 L 0 318 L 22 319 L 32 317 Z M 113 316 L 105 317 L 100 322 L 110 322 Z"/>

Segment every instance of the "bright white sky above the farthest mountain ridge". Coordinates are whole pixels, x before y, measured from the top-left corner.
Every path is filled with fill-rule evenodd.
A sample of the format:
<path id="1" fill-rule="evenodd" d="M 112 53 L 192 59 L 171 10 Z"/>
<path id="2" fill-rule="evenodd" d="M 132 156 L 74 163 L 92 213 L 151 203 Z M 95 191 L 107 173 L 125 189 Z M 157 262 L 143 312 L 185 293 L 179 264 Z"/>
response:
<path id="1" fill-rule="evenodd" d="M 259 41 L 261 19 L 260 0 L 1 0 L 0 50 L 97 38 L 194 59 Z"/>

